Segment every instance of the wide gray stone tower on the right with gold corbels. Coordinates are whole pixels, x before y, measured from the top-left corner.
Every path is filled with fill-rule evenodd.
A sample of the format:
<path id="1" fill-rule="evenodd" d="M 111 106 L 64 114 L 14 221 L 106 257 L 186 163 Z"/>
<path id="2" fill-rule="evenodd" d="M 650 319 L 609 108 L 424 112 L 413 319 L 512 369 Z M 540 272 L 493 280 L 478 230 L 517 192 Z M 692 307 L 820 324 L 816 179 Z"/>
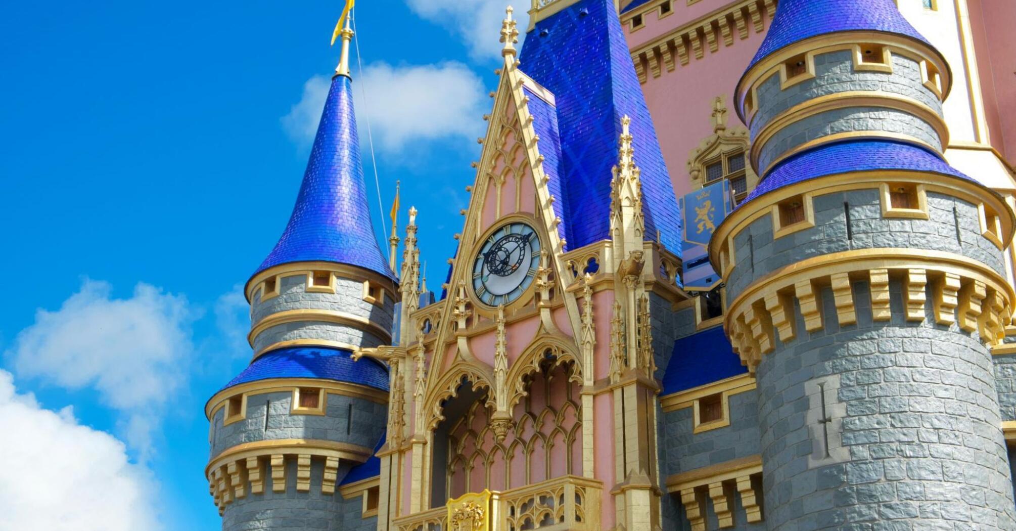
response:
<path id="1" fill-rule="evenodd" d="M 738 84 L 761 181 L 710 256 L 768 529 L 1016 528 L 989 350 L 1013 215 L 942 158 L 950 73 L 891 0 L 782 0 Z"/>

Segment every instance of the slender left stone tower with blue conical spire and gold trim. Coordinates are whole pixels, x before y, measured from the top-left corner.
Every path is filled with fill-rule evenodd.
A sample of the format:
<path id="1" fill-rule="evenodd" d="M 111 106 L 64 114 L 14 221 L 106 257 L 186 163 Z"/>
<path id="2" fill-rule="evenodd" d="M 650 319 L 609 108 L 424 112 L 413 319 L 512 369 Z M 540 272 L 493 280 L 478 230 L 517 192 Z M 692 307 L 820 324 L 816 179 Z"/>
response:
<path id="1" fill-rule="evenodd" d="M 377 475 L 364 469 L 378 466 L 388 373 L 351 355 L 391 343 L 398 289 L 371 226 L 352 36 L 346 25 L 293 216 L 246 285 L 253 360 L 206 406 L 224 530 L 376 528 L 376 487 L 338 488 Z"/>

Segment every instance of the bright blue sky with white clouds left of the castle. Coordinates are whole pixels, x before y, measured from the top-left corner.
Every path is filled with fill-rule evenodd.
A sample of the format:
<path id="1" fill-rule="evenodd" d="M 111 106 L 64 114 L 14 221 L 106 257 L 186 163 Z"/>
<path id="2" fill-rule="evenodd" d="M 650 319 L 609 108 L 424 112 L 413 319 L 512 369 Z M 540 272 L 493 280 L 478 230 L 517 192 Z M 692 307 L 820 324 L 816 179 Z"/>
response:
<path id="1" fill-rule="evenodd" d="M 503 7 L 358 5 L 361 133 L 369 116 L 385 212 L 396 180 L 421 211 L 432 289 L 461 228 Z M 289 218 L 340 10 L 5 6 L 0 423 L 18 436 L 0 453 L 20 465 L 0 470 L 0 530 L 218 528 L 202 408 L 249 359 L 239 287 Z"/>

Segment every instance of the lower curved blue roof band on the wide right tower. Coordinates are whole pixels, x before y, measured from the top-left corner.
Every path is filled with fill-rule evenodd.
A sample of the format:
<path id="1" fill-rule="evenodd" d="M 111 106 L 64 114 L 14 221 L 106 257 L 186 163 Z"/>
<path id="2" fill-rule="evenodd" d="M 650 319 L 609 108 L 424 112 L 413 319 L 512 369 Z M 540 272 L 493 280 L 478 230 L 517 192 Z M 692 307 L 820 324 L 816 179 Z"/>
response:
<path id="1" fill-rule="evenodd" d="M 798 182 L 872 170 L 933 172 L 973 180 L 925 148 L 894 140 L 848 140 L 819 145 L 781 161 L 739 208 L 756 197 Z"/>

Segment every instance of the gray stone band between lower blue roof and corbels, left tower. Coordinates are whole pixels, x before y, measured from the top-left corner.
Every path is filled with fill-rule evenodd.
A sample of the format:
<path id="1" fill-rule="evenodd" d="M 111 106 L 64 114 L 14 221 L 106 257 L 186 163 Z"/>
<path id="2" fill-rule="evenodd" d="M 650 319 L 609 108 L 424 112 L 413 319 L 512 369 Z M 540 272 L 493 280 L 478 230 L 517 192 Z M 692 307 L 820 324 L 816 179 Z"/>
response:
<path id="1" fill-rule="evenodd" d="M 333 393 L 327 395 L 325 415 L 291 414 L 293 393 L 264 393 L 247 397 L 246 418 L 228 426 L 223 425 L 225 408 L 219 409 L 212 418 L 212 459 L 237 445 L 279 438 L 314 438 L 373 449 L 385 429 L 388 406 L 362 398 Z"/>

